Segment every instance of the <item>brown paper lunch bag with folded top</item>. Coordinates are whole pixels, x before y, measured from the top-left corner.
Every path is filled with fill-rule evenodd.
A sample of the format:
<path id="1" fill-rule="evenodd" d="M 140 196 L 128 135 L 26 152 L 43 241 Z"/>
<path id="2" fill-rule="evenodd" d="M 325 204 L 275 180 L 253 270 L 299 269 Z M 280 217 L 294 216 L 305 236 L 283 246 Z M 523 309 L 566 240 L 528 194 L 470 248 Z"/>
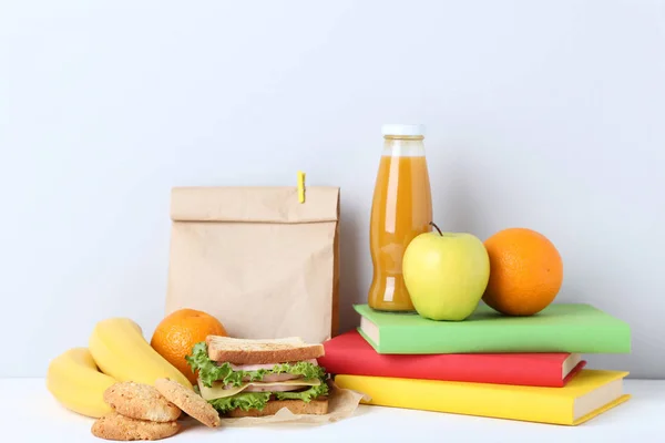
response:
<path id="1" fill-rule="evenodd" d="M 176 187 L 166 315 L 215 316 L 231 337 L 338 331 L 339 188 Z"/>

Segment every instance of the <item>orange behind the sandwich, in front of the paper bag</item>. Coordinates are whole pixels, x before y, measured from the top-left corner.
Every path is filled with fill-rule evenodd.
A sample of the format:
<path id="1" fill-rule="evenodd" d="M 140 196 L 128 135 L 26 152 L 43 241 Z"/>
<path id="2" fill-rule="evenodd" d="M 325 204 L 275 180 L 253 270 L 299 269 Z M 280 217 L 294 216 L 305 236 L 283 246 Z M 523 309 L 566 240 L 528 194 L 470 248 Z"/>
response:
<path id="1" fill-rule="evenodd" d="M 219 320 L 209 313 L 195 309 L 181 309 L 164 317 L 157 324 L 150 344 L 196 383 L 196 374 L 185 360 L 192 353 L 192 348 L 207 336 L 226 336 L 226 330 Z"/>

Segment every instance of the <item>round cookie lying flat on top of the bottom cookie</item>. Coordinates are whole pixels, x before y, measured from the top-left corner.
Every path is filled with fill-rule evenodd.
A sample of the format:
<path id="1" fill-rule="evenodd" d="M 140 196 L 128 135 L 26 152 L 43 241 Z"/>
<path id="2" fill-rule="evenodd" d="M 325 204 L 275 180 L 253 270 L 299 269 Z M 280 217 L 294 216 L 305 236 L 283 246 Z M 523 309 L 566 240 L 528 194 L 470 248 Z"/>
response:
<path id="1" fill-rule="evenodd" d="M 182 411 L 150 384 L 125 381 L 104 391 L 104 401 L 117 413 L 151 422 L 172 422 Z"/>

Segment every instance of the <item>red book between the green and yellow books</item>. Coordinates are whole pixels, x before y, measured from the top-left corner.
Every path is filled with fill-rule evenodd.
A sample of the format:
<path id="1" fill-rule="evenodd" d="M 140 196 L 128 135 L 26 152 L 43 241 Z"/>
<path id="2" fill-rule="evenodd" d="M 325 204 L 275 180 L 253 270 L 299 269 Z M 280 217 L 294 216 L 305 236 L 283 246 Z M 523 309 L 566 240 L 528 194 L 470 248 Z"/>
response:
<path id="1" fill-rule="evenodd" d="M 380 354 L 356 330 L 324 348 L 318 362 L 336 375 L 562 388 L 586 364 L 577 353 Z"/>

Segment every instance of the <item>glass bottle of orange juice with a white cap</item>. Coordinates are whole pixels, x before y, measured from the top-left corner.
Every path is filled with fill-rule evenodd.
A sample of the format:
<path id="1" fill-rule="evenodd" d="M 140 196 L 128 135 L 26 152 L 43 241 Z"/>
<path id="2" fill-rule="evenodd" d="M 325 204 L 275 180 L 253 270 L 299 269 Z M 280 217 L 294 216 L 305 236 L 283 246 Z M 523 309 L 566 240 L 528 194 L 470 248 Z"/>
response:
<path id="1" fill-rule="evenodd" d="M 375 184 L 369 243 L 374 277 L 368 303 L 381 311 L 413 311 L 402 279 L 402 255 L 430 231 L 432 202 L 422 125 L 383 125 L 383 152 Z"/>

